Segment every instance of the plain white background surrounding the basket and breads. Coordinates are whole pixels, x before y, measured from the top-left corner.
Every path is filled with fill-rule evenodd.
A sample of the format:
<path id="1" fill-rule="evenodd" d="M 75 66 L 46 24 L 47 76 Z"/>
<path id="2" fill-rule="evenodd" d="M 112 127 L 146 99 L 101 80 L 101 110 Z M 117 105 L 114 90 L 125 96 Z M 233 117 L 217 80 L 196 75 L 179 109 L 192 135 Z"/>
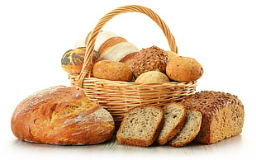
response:
<path id="1" fill-rule="evenodd" d="M 10 129 L 17 104 L 45 87 L 69 86 L 60 66 L 97 21 L 116 7 L 140 4 L 151 8 L 169 26 L 179 54 L 197 59 L 204 68 L 197 91 L 230 92 L 244 103 L 242 134 L 219 144 L 183 148 L 122 148 L 102 152 L 95 146 L 60 147 L 18 141 Z M 0 153 L 8 158 L 244 158 L 255 144 L 255 3 L 240 1 L 1 1 L 0 2 Z M 103 28 L 138 48 L 167 40 L 154 21 L 140 13 L 116 16 Z M 90 148 L 90 149 L 88 149 Z M 122 150 L 124 149 L 124 150 Z M 140 152 L 135 152 L 138 149 Z M 202 150 L 201 150 L 202 149 Z M 251 157 L 253 158 L 253 157 Z"/>

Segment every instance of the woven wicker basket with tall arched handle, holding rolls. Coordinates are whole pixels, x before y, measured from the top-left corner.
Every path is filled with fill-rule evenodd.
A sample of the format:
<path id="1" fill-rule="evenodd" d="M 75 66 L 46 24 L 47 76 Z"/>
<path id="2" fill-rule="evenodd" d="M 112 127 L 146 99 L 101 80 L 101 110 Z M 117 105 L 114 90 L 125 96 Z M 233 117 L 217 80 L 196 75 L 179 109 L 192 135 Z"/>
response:
<path id="1" fill-rule="evenodd" d="M 80 87 L 85 94 L 99 102 L 113 115 L 118 124 L 130 108 L 142 105 L 164 106 L 171 101 L 178 101 L 185 96 L 192 95 L 197 82 L 168 82 L 168 83 L 136 83 L 119 82 L 92 78 L 92 50 L 97 34 L 111 18 L 121 13 L 140 12 L 155 21 L 164 32 L 170 49 L 178 53 L 174 37 L 164 21 L 151 9 L 137 5 L 118 7 L 107 13 L 97 23 L 86 44 L 87 51 L 80 74 L 69 74 L 72 87 Z"/>

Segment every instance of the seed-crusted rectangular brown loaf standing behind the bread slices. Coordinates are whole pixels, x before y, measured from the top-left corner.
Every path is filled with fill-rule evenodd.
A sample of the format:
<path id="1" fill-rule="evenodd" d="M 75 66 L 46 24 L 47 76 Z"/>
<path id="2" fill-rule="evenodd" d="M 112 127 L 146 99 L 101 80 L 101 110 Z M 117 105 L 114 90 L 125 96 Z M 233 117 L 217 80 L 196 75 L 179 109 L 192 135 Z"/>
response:
<path id="1" fill-rule="evenodd" d="M 201 91 L 181 101 L 187 109 L 201 111 L 202 123 L 196 142 L 214 144 L 242 132 L 244 106 L 237 96 Z"/>

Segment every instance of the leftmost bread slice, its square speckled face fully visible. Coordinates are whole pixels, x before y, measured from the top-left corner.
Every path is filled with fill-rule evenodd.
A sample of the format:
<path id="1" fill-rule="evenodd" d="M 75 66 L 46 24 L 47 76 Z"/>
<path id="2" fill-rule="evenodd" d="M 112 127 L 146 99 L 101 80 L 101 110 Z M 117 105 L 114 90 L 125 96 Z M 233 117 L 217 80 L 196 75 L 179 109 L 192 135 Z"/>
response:
<path id="1" fill-rule="evenodd" d="M 163 123 L 161 107 L 137 106 L 126 113 L 116 137 L 119 144 L 149 146 L 157 139 Z"/>

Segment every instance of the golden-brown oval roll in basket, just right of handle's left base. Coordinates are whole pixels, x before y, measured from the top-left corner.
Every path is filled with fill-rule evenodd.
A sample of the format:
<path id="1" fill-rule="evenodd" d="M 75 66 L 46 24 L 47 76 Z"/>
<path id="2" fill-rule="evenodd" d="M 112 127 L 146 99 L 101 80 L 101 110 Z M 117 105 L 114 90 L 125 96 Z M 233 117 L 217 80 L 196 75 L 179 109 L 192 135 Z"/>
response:
<path id="1" fill-rule="evenodd" d="M 133 75 L 130 67 L 125 63 L 101 60 L 93 65 L 92 76 L 111 81 L 130 82 Z"/>

